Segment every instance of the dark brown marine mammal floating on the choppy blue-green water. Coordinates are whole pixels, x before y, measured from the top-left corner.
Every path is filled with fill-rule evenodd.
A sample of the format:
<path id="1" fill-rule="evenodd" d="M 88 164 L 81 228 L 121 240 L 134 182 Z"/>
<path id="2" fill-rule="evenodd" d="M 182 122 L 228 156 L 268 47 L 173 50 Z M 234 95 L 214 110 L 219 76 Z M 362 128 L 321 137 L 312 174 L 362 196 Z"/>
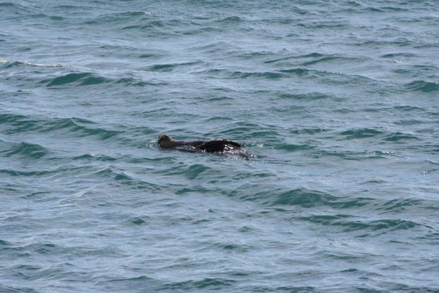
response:
<path id="1" fill-rule="evenodd" d="M 215 139 L 213 141 L 174 141 L 169 135 L 158 134 L 158 146 L 161 148 L 189 147 L 202 152 L 230 152 L 241 150 L 241 145 L 236 141 Z"/>

